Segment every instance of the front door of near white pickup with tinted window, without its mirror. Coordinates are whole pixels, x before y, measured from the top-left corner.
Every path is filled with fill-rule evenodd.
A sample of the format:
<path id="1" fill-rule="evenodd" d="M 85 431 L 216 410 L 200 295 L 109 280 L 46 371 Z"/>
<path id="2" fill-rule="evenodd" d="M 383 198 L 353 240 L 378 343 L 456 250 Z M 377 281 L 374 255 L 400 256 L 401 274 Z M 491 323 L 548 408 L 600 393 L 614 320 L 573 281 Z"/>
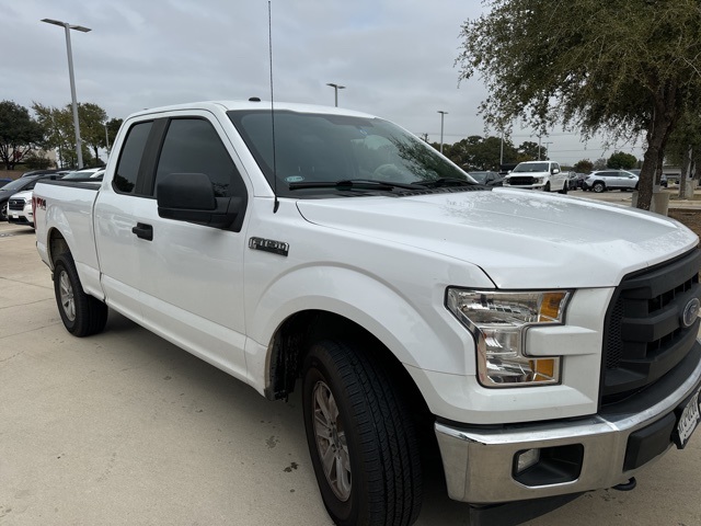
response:
<path id="1" fill-rule="evenodd" d="M 157 187 L 170 173 L 204 173 L 215 193 L 248 195 L 235 153 L 207 112 L 165 119 L 151 180 L 134 209 L 145 325 L 239 378 L 245 378 L 245 235 L 158 215 Z M 225 138 L 222 140 L 222 137 Z"/>

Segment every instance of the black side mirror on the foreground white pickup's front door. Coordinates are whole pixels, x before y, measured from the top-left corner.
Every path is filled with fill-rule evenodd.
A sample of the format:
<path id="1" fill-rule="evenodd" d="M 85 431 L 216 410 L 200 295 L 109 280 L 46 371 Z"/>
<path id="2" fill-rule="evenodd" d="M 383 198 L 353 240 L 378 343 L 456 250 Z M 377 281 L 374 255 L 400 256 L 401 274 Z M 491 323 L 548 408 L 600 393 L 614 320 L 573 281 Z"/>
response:
<path id="1" fill-rule="evenodd" d="M 239 197 L 216 197 L 204 173 L 170 173 L 158 182 L 156 195 L 160 217 L 221 229 L 245 206 Z"/>

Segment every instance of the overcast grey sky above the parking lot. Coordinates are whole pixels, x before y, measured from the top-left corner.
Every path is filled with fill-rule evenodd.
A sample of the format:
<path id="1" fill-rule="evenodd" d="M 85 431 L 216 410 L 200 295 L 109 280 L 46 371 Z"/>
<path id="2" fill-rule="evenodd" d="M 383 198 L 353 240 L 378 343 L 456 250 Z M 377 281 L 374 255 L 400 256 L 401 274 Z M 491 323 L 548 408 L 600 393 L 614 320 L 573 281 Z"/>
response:
<path id="1" fill-rule="evenodd" d="M 272 0 L 275 101 L 334 104 L 388 118 L 438 142 L 487 135 L 478 106 L 480 79 L 459 81 L 455 61 L 461 24 L 478 18 L 479 0 Z M 71 31 L 79 102 L 110 118 L 148 107 L 204 100 L 271 99 L 267 0 L 0 0 L 4 50 L 0 100 L 70 103 L 65 31 L 54 19 L 90 27 Z M 490 132 L 491 135 L 497 135 Z M 538 142 L 515 126 L 518 146 Z M 617 149 L 642 159 L 640 145 L 604 149 L 576 133 L 542 137 L 551 159 L 595 161 Z"/>

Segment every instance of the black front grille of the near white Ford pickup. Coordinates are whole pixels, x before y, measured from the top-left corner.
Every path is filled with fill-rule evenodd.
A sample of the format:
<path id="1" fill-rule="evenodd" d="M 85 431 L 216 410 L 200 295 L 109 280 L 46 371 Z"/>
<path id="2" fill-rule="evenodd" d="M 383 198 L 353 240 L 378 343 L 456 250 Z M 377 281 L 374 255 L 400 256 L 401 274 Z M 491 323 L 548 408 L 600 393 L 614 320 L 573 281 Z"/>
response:
<path id="1" fill-rule="evenodd" d="M 601 404 L 654 384 L 691 351 L 700 319 L 683 320 L 701 298 L 701 251 L 633 273 L 616 289 L 604 332 Z"/>

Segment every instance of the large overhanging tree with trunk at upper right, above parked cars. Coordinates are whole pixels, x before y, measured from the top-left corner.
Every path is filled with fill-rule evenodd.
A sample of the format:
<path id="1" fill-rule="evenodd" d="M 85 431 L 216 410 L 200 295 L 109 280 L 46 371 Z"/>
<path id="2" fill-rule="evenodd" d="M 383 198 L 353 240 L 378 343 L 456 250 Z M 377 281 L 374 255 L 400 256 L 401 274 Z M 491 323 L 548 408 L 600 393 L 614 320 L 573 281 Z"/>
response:
<path id="1" fill-rule="evenodd" d="M 639 207 L 678 119 L 701 103 L 699 0 L 485 0 L 462 26 L 460 78 L 480 73 L 481 111 L 503 129 L 517 117 L 585 137 L 645 134 Z M 573 23 L 576 21 L 576 23 Z"/>

